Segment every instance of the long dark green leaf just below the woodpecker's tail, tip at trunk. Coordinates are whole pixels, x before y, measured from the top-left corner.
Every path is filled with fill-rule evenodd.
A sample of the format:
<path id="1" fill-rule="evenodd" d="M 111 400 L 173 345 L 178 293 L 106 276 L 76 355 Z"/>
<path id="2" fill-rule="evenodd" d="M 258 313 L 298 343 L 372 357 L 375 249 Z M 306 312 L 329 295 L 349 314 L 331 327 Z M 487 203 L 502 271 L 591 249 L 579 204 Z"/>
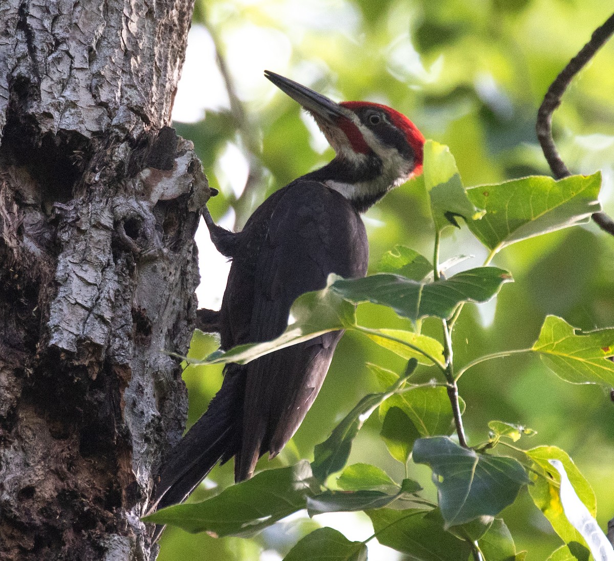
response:
<path id="1" fill-rule="evenodd" d="M 319 490 L 309 462 L 303 460 L 287 468 L 261 471 L 201 503 L 160 509 L 144 520 L 192 533 L 248 537 L 306 508 L 307 498 Z"/>

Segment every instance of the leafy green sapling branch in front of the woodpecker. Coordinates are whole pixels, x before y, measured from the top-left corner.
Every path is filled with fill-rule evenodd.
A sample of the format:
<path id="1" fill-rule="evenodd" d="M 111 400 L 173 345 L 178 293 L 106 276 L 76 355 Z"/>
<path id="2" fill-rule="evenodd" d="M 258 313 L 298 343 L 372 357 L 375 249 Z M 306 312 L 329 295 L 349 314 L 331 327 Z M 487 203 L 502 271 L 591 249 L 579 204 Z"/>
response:
<path id="1" fill-rule="evenodd" d="M 529 494 L 562 540 L 583 543 L 583 536 L 562 514 L 559 479 L 550 463 L 562 463 L 579 500 L 594 516 L 594 494 L 569 456 L 556 447 L 524 450 L 513 446 L 510 442 L 535 431 L 499 420 L 489 422 L 486 443 L 469 447 L 457 382 L 473 366 L 524 353 L 539 357 L 565 381 L 614 386 L 614 363 L 608 360 L 614 355 L 614 328 L 585 333 L 561 318 L 548 316 L 530 349 L 484 355 L 461 368 L 454 365 L 453 328 L 465 304 L 486 302 L 512 281 L 508 271 L 489 266 L 500 250 L 521 239 L 589 219 L 599 204 L 600 174 L 560 181 L 526 177 L 465 189 L 453 156 L 435 142 L 426 144 L 425 166 L 435 225 L 432 261 L 410 248 L 395 247 L 384 256 L 382 273 L 363 279 L 332 275 L 324 289 L 300 296 L 290 312 L 292 323 L 273 341 L 216 351 L 202 361 L 190 361 L 247 363 L 328 331 L 350 330 L 407 360 L 405 371 L 397 374 L 368 364 L 381 391 L 366 395 L 349 411 L 315 447 L 311 464 L 303 461 L 263 471 L 203 503 L 163 509 L 148 520 L 179 525 L 191 532 L 249 536 L 305 508 L 310 516 L 364 511 L 374 530 L 367 540 L 352 542 L 332 528 L 320 528 L 298 541 L 286 559 L 326 556 L 363 561 L 367 559 L 365 544 L 373 537 L 424 561 L 467 561 L 470 556 L 474 561 L 519 559 L 507 526 L 497 516 L 532 482 Z M 443 273 L 448 266 L 465 259 L 457 256 L 441 265 L 438 262 L 441 231 L 459 226 L 459 218 L 489 249 L 489 256 L 482 267 L 446 276 Z M 414 330 L 359 325 L 356 306 L 364 302 L 387 306 L 411 320 Z M 420 332 L 422 320 L 429 319 L 441 325 L 441 342 Z M 437 377 L 412 384 L 410 378 L 419 364 L 435 366 Z M 376 410 L 384 444 L 405 466 L 402 482 L 374 465 L 346 466 L 354 438 Z M 455 430 L 459 444 L 449 438 Z M 502 449 L 499 444 L 523 461 L 497 454 Z M 408 478 L 410 458 L 432 470 L 437 505 L 422 497 L 421 486 Z M 340 476 L 335 481 L 337 473 Z"/>

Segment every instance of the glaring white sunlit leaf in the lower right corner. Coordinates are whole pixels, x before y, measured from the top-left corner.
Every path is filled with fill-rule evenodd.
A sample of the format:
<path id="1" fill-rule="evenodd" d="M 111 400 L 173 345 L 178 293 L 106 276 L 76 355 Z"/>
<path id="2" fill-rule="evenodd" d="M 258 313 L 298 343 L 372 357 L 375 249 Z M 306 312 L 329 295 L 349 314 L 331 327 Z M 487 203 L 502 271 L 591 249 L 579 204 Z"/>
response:
<path id="1" fill-rule="evenodd" d="M 591 516 L 586 505 L 580 500 L 561 460 L 549 460 L 554 469 L 559 472 L 561 487 L 559 497 L 563 505 L 563 511 L 570 524 L 580 532 L 588 544 L 591 554 L 599 561 L 614 561 L 614 548 L 608 541 L 603 530 L 597 524 L 597 520 Z"/>

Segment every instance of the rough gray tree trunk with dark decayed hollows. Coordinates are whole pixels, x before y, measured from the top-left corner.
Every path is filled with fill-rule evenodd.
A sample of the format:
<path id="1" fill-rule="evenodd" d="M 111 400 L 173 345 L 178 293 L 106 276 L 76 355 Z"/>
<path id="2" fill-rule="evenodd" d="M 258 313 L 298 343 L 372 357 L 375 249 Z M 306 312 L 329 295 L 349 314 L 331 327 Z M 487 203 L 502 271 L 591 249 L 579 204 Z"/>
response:
<path id="1" fill-rule="evenodd" d="M 0 1 L 0 559 L 154 559 L 209 196 L 169 123 L 191 0 Z"/>

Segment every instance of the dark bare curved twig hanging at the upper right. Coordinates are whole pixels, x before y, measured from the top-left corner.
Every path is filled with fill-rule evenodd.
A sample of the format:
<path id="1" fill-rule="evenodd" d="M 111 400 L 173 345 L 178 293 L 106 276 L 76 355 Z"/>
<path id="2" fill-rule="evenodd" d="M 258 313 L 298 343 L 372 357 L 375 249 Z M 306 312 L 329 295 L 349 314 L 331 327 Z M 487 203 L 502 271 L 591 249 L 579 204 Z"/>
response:
<path id="1" fill-rule="evenodd" d="M 554 145 L 552 138 L 552 114 L 561 105 L 562 95 L 565 93 L 573 77 L 586 66 L 599 48 L 612 37 L 612 34 L 614 34 L 614 14 L 605 20 L 604 25 L 595 29 L 591 40 L 581 48 L 580 52 L 569 61 L 569 64 L 565 66 L 561 74 L 551 83 L 543 98 L 542 106 L 540 106 L 537 112 L 537 125 L 535 126 L 537 137 L 542 145 L 543 155 L 548 161 L 556 179 L 570 176 L 571 172 L 561 160 L 556 150 L 556 145 Z M 593 214 L 593 220 L 602 230 L 614 236 L 614 220 L 605 212 L 596 212 Z"/>

